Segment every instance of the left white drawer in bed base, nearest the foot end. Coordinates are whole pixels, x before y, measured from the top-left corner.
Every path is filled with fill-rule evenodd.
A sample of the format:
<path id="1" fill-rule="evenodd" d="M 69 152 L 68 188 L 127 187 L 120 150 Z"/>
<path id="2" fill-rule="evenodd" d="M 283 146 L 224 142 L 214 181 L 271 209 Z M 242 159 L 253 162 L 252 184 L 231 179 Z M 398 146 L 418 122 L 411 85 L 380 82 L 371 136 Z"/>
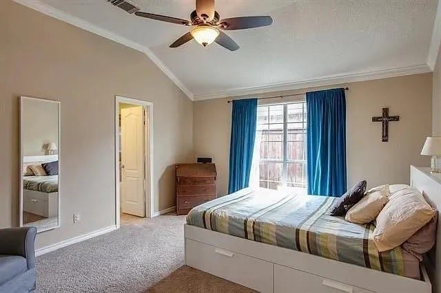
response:
<path id="1" fill-rule="evenodd" d="M 259 292 L 273 292 L 273 264 L 190 239 L 185 240 L 185 263 Z"/>

